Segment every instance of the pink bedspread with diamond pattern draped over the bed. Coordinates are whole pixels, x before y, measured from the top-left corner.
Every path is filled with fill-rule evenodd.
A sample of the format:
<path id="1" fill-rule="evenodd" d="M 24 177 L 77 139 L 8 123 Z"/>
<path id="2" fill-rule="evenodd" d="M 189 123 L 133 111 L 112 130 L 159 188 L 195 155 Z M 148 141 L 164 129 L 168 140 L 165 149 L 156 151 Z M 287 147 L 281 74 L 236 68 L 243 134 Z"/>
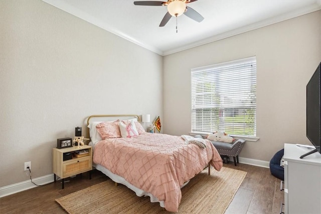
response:
<path id="1" fill-rule="evenodd" d="M 168 211 L 178 211 L 180 186 L 210 163 L 223 163 L 213 144 L 206 148 L 185 144 L 182 137 L 144 133 L 131 138 L 110 138 L 95 145 L 93 161 L 124 177 L 132 185 L 165 201 Z"/>

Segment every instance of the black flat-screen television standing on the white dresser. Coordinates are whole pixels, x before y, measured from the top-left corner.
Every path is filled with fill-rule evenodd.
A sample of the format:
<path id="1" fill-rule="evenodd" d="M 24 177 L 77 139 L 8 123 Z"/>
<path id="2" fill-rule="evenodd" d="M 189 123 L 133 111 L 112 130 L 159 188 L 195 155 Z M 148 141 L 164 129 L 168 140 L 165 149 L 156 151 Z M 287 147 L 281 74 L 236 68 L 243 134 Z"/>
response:
<path id="1" fill-rule="evenodd" d="M 306 137 L 314 145 L 315 149 L 301 155 L 300 158 L 314 152 L 321 153 L 320 67 L 321 62 L 306 85 Z"/>

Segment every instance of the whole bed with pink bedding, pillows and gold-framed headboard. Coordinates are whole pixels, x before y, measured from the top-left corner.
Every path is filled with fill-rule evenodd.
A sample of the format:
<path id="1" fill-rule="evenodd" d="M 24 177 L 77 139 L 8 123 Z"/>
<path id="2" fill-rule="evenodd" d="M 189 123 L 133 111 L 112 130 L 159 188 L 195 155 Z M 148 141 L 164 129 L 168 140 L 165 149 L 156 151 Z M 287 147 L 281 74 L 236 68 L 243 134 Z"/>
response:
<path id="1" fill-rule="evenodd" d="M 211 165 L 219 171 L 222 159 L 209 140 L 148 133 L 139 121 L 138 115 L 89 116 L 93 163 L 136 195 L 149 196 L 151 202 L 177 212 L 181 188 L 206 167 L 209 173 Z"/>

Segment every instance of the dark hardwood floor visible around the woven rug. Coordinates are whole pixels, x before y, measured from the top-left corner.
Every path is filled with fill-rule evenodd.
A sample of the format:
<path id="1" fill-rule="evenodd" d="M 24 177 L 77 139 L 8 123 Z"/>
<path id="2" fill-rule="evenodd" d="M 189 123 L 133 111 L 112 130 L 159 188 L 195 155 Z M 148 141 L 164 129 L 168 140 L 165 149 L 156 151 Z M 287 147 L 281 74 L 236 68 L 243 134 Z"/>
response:
<path id="1" fill-rule="evenodd" d="M 242 163 L 234 166 L 233 162 L 224 166 L 247 172 L 225 213 L 279 213 L 284 194 L 280 191 L 280 180 L 272 176 L 268 168 Z M 0 198 L 0 213 L 66 213 L 55 201 L 56 198 L 107 179 L 100 171 L 93 170 L 91 180 L 88 173 L 66 178 L 70 181 L 65 183 L 64 189 L 61 189 L 61 182 L 57 181 L 8 195 Z"/>

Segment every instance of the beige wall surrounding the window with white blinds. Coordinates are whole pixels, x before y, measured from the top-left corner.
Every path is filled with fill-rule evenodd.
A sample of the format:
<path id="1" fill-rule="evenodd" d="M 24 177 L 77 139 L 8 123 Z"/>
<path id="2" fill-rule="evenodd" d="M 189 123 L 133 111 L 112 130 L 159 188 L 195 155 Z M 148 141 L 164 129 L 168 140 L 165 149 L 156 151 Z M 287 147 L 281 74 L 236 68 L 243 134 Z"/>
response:
<path id="1" fill-rule="evenodd" d="M 257 142 L 241 157 L 269 161 L 305 137 L 305 86 L 321 61 L 321 11 L 164 57 L 164 131 L 191 130 L 192 68 L 257 59 Z"/>

